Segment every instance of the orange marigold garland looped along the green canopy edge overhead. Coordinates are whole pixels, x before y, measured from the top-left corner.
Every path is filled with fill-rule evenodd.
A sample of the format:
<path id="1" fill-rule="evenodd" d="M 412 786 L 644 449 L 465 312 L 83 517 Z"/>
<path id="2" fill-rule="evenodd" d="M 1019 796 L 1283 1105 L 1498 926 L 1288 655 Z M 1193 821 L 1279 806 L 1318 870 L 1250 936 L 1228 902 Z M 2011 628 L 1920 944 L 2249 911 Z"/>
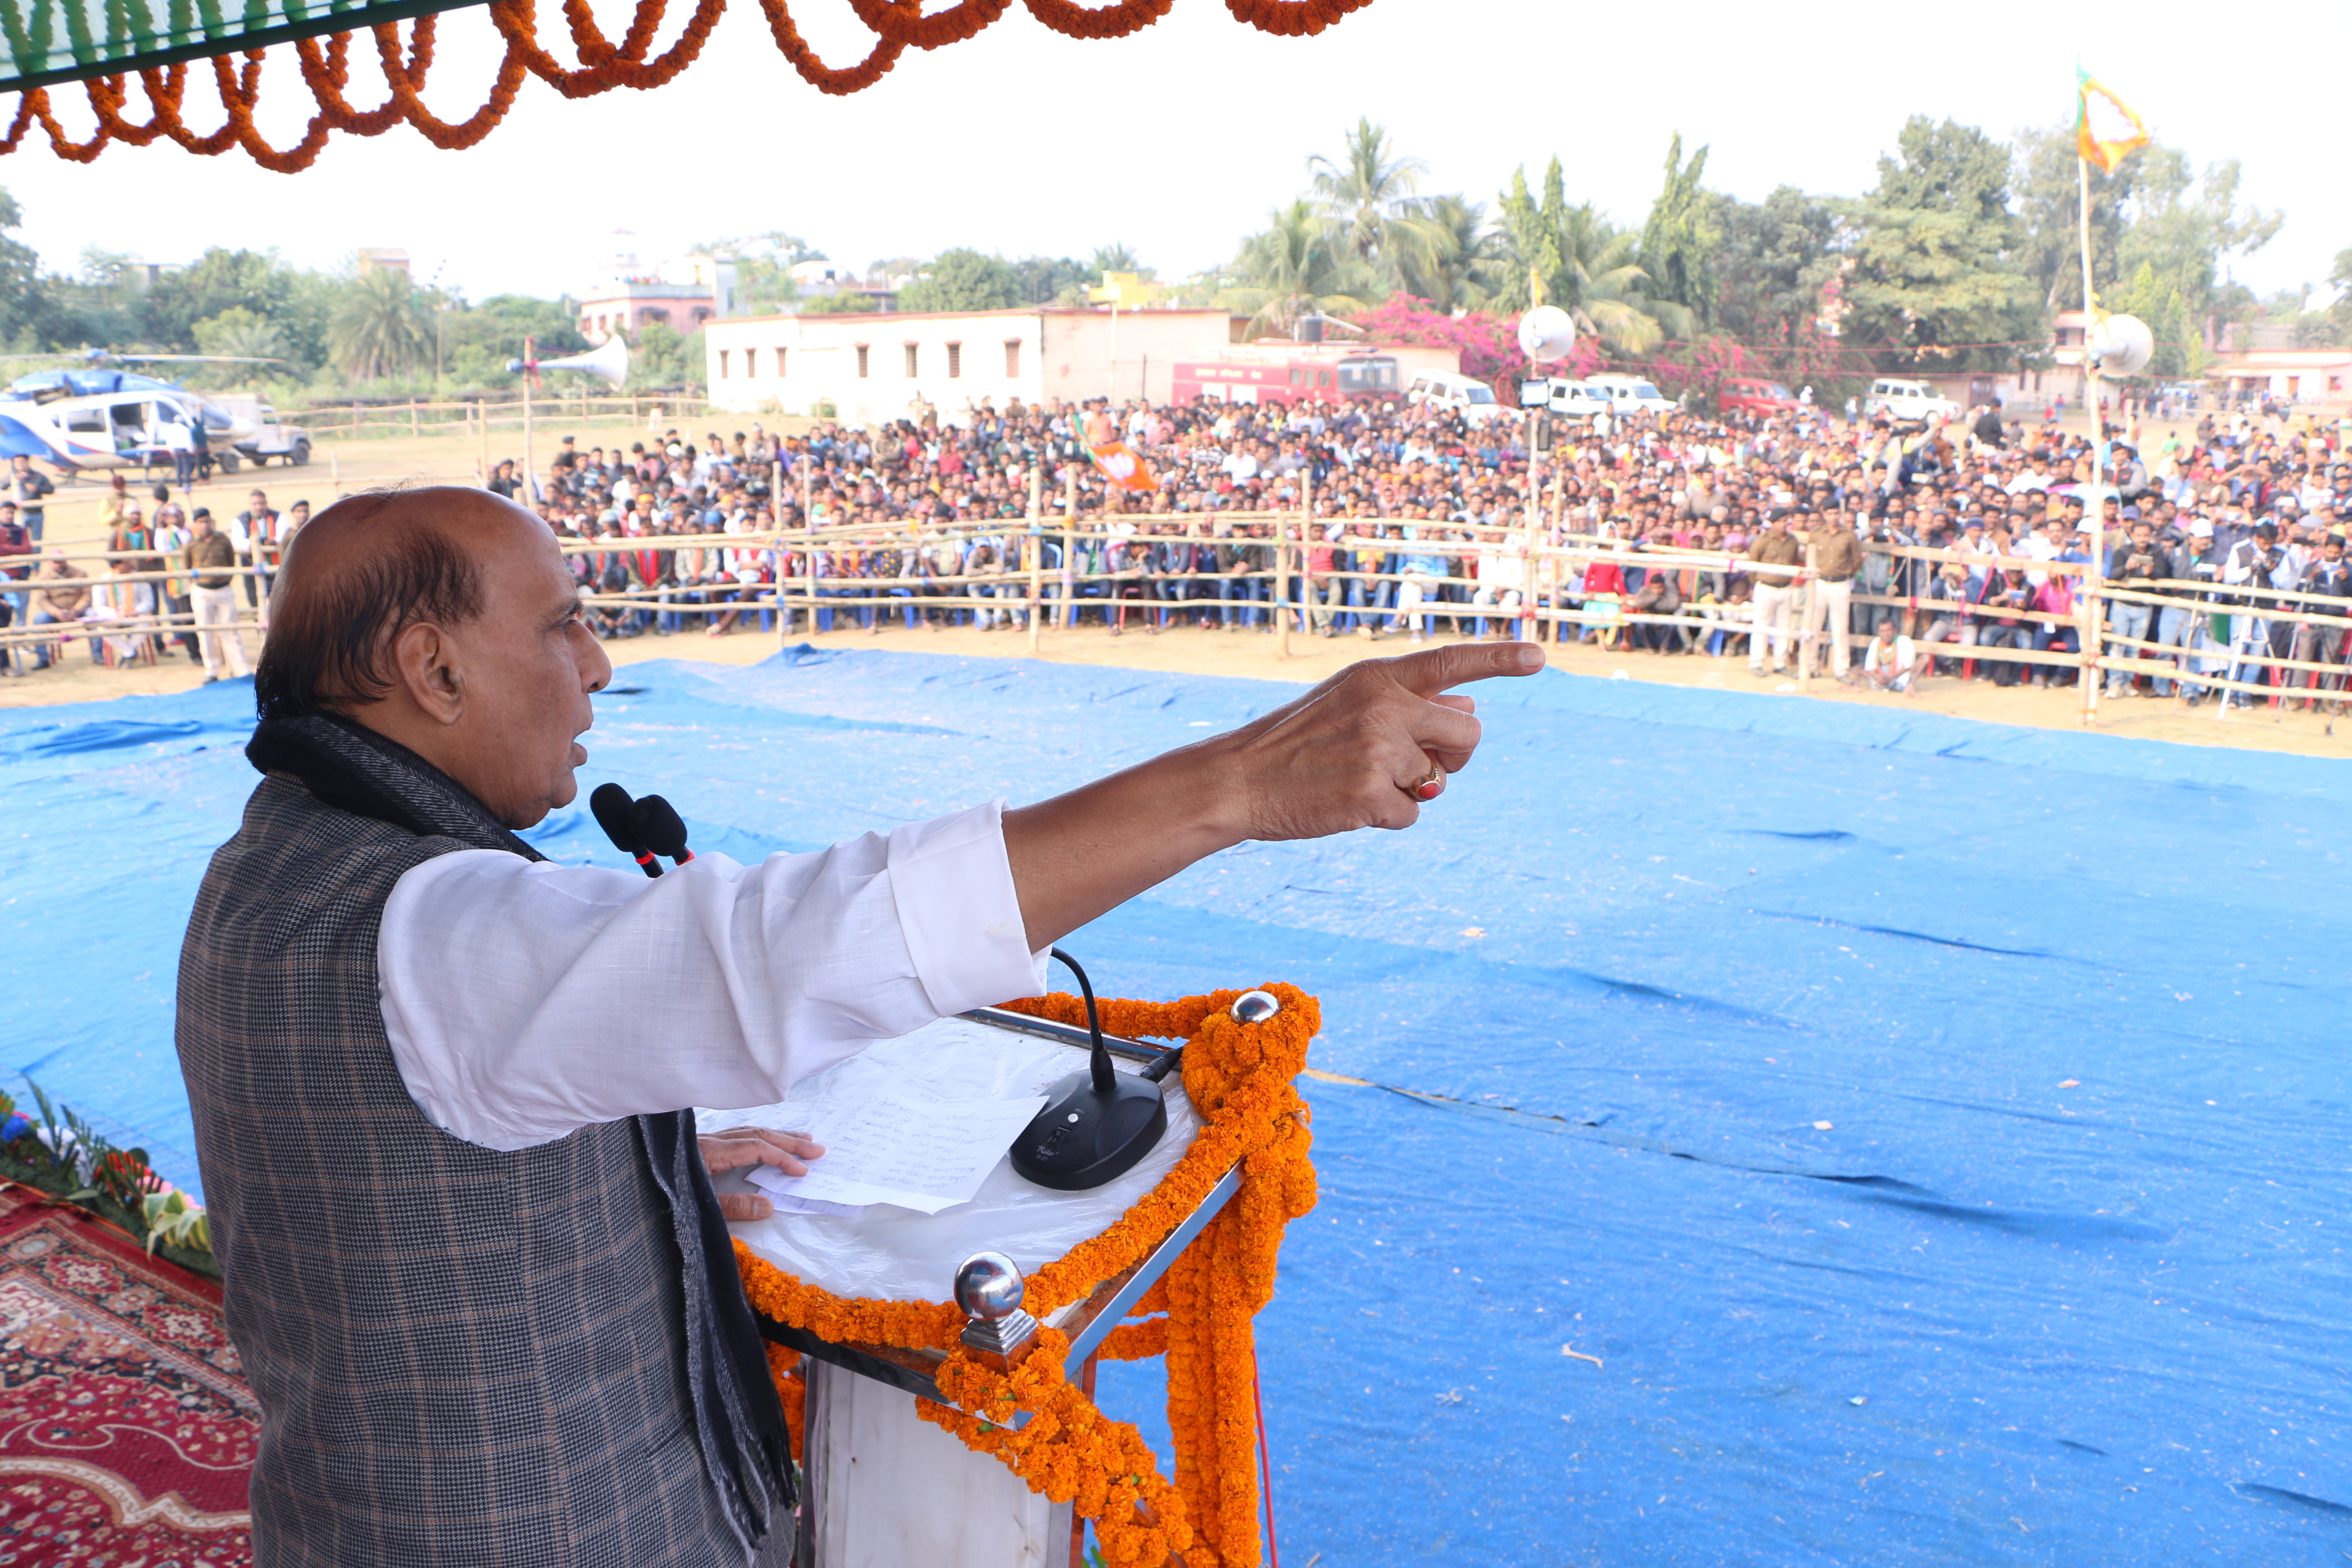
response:
<path id="1" fill-rule="evenodd" d="M 1087 7 L 1070 0 L 1023 0 L 1030 16 L 1068 38 L 1127 38 L 1167 16 L 1171 2 L 1115 0 L 1115 5 Z M 1369 2 L 1225 0 L 1225 9 L 1261 33 L 1305 38 L 1322 33 L 1348 12 Z M 776 40 L 776 49 L 818 92 L 863 92 L 880 82 L 906 49 L 941 49 L 964 42 L 1011 9 L 1011 0 L 957 0 L 955 7 L 931 16 L 922 14 L 920 0 L 849 0 L 849 7 L 875 35 L 873 49 L 854 66 L 828 66 L 800 35 L 786 0 L 760 0 L 760 12 L 767 16 L 767 31 Z M 308 169 L 334 132 L 343 132 L 346 136 L 381 136 L 395 125 L 412 125 L 437 148 L 470 148 L 506 120 L 524 75 L 536 75 L 567 99 L 588 99 L 614 87 L 635 87 L 642 92 L 666 85 L 703 52 L 710 28 L 717 24 L 720 12 L 727 9 L 727 0 L 696 0 L 677 42 L 659 56 L 647 59 L 666 9 L 668 0 L 635 0 L 628 31 L 614 42 L 597 28 L 586 0 L 564 0 L 564 28 L 579 54 L 579 66 L 574 68 L 541 47 L 536 0 L 494 0 L 489 19 L 506 40 L 506 54 L 499 61 L 489 96 L 463 120 L 442 120 L 423 106 L 426 73 L 433 66 L 435 24 L 435 16 L 426 14 L 409 24 L 407 45 L 402 45 L 397 21 L 367 28 L 386 80 L 386 99 L 374 108 L 353 108 L 343 96 L 350 82 L 350 42 L 358 33 L 327 33 L 287 45 L 294 52 L 294 66 L 310 92 L 315 113 L 303 134 L 285 148 L 270 146 L 254 127 L 254 106 L 261 99 L 261 68 L 270 52 L 238 49 L 235 42 L 226 42 L 221 54 L 200 61 L 200 68 L 209 66 L 212 85 L 219 92 L 221 122 L 212 129 L 193 129 L 183 118 L 188 108 L 188 66 L 172 63 L 82 80 L 80 87 L 89 96 L 89 110 L 96 120 L 96 132 L 85 141 L 75 141 L 56 118 L 49 87 L 33 87 L 19 94 L 7 134 L 0 134 L 0 153 L 14 153 L 33 125 L 40 125 L 49 139 L 49 148 L 71 162 L 92 162 L 115 141 L 148 146 L 162 139 L 202 155 L 245 148 L 254 162 L 278 174 Z M 127 115 L 134 92 L 132 75 L 139 78 L 136 92 L 146 96 L 143 120 Z"/>

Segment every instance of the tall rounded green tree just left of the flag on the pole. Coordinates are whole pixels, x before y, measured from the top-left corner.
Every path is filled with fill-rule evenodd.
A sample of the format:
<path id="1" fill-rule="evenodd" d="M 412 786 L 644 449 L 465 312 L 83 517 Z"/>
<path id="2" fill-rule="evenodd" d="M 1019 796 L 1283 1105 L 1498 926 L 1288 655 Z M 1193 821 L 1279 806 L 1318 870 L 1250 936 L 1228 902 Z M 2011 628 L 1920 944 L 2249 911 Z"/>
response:
<path id="1" fill-rule="evenodd" d="M 1898 158 L 1879 158 L 1877 190 L 1846 205 L 1846 339 L 1879 369 L 2018 364 L 2016 346 L 2039 341 L 2039 301 L 2016 259 L 2009 150 L 1926 115 L 1896 146 Z"/>

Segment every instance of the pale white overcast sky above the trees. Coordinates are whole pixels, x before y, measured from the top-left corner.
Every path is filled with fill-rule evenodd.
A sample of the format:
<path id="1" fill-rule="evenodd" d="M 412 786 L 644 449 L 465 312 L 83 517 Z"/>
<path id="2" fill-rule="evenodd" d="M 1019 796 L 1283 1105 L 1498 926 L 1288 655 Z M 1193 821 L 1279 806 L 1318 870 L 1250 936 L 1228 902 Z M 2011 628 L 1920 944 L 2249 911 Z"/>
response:
<path id="1" fill-rule="evenodd" d="M 597 9 L 621 14 L 614 0 Z M 2161 26 L 2164 9 L 2178 26 Z M 802 0 L 795 16 L 830 59 L 863 54 L 840 0 Z M 1178 0 L 1136 38 L 1075 42 L 1016 5 L 981 38 L 908 54 L 877 87 L 830 99 L 776 54 L 757 5 L 736 0 L 670 87 L 567 103 L 527 82 L 468 153 L 400 127 L 334 136 L 296 176 L 172 146 L 108 148 L 85 167 L 35 132 L 0 158 L 0 183 L 52 268 L 89 244 L 151 261 L 245 244 L 303 266 L 376 244 L 405 247 L 419 280 L 473 299 L 576 294 L 623 249 L 654 263 L 783 228 L 856 268 L 950 244 L 1084 256 L 1124 240 L 1178 275 L 1230 256 L 1357 115 L 1428 162 L 1423 190 L 1491 202 L 1515 165 L 1534 181 L 1559 153 L 1569 200 L 1639 223 L 1675 129 L 1712 146 L 1719 190 L 1860 193 L 1905 115 L 1999 136 L 2070 115 L 2079 54 L 2159 139 L 2199 165 L 2241 160 L 2244 200 L 2286 209 L 2279 237 L 2237 268 L 2244 282 L 2324 289 L 2331 259 L 2352 247 L 2343 52 L 2321 47 L 2345 38 L 2343 0 L 2246 16 L 2258 38 L 2239 45 L 2220 38 L 2227 12 L 2157 5 L 2119 24 L 2114 5 L 2084 0 L 1957 12 L 1374 0 L 1322 38 L 1279 40 L 1216 0 Z M 541 0 L 541 35 L 562 38 L 555 0 Z M 494 40 L 480 9 L 442 19 L 428 99 L 445 118 L 480 101 Z M 2232 85 L 2216 49 L 2258 54 L 2256 82 Z M 266 82 L 292 141 L 301 122 L 287 110 L 308 94 L 275 54 Z M 353 99 L 369 101 L 360 87 Z"/>

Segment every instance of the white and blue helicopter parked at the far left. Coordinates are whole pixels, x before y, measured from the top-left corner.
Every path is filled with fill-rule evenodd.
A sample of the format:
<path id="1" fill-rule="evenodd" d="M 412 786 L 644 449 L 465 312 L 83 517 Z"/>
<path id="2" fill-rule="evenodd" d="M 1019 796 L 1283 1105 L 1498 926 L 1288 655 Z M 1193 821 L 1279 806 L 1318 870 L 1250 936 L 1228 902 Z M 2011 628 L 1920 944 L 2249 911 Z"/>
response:
<path id="1" fill-rule="evenodd" d="M 99 348 L 54 357 L 71 364 L 16 376 L 0 397 L 0 458 L 40 458 L 61 473 L 169 468 L 167 430 L 188 421 L 202 421 L 205 444 L 221 473 L 235 473 L 240 449 L 261 442 L 261 421 L 113 364 L 282 364 L 242 355 L 113 355 Z"/>

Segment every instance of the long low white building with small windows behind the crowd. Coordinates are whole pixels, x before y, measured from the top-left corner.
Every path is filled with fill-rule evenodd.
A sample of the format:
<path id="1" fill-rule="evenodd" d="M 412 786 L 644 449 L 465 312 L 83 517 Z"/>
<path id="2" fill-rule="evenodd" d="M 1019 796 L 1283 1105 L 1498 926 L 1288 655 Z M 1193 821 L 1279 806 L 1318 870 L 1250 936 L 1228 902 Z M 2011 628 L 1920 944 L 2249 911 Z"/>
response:
<path id="1" fill-rule="evenodd" d="M 922 404 L 960 418 L 1084 397 L 1167 402 L 1178 360 L 1240 336 L 1225 310 L 1028 306 L 974 313 L 755 315 L 703 329 L 710 404 L 736 414 L 828 414 L 880 425 Z"/>

